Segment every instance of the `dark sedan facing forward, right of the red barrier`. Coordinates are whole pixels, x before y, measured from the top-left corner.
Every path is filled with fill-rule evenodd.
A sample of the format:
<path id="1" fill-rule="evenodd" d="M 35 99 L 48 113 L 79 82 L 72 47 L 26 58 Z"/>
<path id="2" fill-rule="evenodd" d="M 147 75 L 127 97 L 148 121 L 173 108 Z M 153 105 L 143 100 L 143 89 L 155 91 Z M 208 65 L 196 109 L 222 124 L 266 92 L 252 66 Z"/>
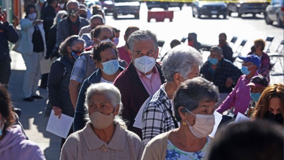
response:
<path id="1" fill-rule="evenodd" d="M 201 15 L 206 15 L 211 17 L 212 15 L 223 15 L 225 19 L 227 17 L 227 4 L 223 2 L 209 2 L 209 1 L 196 1 L 191 3 L 192 6 L 192 16 L 197 15 L 198 18 Z"/>

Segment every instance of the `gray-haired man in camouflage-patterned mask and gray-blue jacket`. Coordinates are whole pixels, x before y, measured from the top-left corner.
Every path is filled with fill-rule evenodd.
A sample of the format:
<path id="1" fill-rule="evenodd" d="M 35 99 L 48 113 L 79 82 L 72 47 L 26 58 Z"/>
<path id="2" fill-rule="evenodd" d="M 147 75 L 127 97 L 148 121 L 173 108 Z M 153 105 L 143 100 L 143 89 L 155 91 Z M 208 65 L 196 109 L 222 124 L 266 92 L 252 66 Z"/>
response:
<path id="1" fill-rule="evenodd" d="M 59 46 L 62 41 L 72 35 L 78 35 L 82 27 L 89 25 L 89 22 L 79 17 L 79 3 L 76 0 L 69 0 L 66 4 L 68 16 L 63 18 L 57 27 L 56 45 Z"/>

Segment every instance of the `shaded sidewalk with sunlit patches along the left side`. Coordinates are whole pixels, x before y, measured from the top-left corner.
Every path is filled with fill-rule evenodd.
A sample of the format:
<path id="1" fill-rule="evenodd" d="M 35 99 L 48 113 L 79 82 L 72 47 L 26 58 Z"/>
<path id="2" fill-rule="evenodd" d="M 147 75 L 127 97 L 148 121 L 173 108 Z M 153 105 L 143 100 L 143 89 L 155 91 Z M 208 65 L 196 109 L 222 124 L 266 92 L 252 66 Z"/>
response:
<path id="1" fill-rule="evenodd" d="M 22 79 L 26 70 L 22 55 L 10 52 L 12 63 L 12 74 L 9 81 L 9 92 L 13 105 L 22 109 L 20 122 L 22 123 L 26 135 L 30 140 L 36 142 L 47 160 L 59 160 L 61 137 L 46 131 L 48 119 L 44 118 L 46 101 L 48 100 L 47 90 L 38 88 L 43 99 L 35 102 L 23 101 Z"/>

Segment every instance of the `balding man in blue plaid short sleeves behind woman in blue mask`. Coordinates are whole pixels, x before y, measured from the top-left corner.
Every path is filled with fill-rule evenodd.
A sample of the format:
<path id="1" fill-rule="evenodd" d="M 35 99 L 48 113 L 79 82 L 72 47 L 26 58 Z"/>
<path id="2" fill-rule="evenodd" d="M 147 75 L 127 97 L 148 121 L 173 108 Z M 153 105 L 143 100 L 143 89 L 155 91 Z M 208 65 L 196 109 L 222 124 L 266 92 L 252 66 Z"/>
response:
<path id="1" fill-rule="evenodd" d="M 114 41 L 114 31 L 112 27 L 106 25 L 99 25 L 93 31 L 93 37 L 95 44 L 99 44 L 101 41 Z M 90 57 L 91 51 L 81 53 L 78 60 L 76 60 L 69 84 L 69 91 L 74 109 L 76 107 L 78 94 L 81 89 L 83 81 L 91 76 L 98 68 L 94 64 L 94 61 Z M 127 64 L 125 61 L 119 60 L 120 66 L 125 67 Z"/>

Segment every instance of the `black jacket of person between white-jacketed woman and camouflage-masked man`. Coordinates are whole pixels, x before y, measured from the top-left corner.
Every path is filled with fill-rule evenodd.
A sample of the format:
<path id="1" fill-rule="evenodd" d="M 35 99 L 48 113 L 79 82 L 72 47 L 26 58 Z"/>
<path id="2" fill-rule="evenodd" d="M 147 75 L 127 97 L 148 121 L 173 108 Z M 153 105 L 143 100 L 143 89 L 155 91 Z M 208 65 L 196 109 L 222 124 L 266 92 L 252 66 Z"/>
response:
<path id="1" fill-rule="evenodd" d="M 54 18 L 56 16 L 55 9 L 51 7 L 51 5 L 47 5 L 45 8 L 42 9 L 41 19 L 43 20 L 43 29 L 45 32 L 45 39 L 47 43 L 47 37 L 49 33 L 49 29 L 53 25 Z"/>

